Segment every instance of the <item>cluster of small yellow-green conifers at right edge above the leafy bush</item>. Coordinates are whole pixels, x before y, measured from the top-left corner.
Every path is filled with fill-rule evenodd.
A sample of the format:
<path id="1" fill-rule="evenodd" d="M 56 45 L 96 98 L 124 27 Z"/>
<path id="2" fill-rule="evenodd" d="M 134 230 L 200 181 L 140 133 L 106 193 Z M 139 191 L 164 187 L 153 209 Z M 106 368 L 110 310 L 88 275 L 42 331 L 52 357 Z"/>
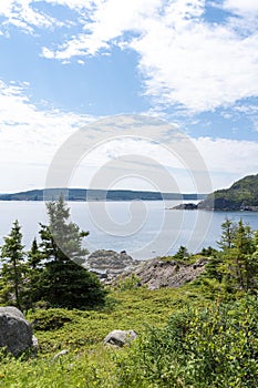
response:
<path id="1" fill-rule="evenodd" d="M 226 219 L 217 242 L 219 251 L 210 248 L 209 261 L 200 282 L 227 295 L 252 293 L 258 289 L 258 231 L 252 231 L 240 219 Z M 210 280 L 210 282 L 209 282 Z"/>

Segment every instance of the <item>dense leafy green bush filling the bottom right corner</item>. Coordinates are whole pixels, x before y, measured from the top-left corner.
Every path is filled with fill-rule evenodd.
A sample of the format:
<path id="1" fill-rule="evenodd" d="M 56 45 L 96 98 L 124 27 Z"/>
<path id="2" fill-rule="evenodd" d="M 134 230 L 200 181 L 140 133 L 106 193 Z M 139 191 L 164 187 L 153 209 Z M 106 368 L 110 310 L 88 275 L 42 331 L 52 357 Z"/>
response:
<path id="1" fill-rule="evenodd" d="M 175 314 L 116 359 L 122 387 L 248 387 L 258 381 L 258 302 Z"/>

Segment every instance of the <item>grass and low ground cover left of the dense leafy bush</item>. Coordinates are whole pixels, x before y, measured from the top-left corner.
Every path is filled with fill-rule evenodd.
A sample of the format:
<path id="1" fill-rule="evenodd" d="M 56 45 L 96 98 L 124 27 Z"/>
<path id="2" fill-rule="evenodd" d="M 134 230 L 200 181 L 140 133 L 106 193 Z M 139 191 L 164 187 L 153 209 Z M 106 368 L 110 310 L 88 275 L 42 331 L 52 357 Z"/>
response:
<path id="1" fill-rule="evenodd" d="M 103 345 L 113 329 L 134 329 L 140 335 L 147 326 L 163 327 L 167 318 L 187 303 L 205 299 L 197 289 L 113 290 L 101 310 L 37 309 L 27 318 L 34 326 L 39 340 L 35 358 L 2 357 L 0 387 L 121 387 L 115 359 L 128 348 L 114 349 Z M 69 354 L 53 360 L 62 349 Z"/>

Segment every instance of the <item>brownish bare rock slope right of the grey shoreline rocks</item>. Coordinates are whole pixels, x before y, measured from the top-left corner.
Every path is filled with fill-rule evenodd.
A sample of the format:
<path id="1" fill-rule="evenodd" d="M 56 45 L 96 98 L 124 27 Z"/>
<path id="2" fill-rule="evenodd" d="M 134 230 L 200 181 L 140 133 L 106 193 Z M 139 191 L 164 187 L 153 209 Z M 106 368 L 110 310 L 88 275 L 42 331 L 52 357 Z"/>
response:
<path id="1" fill-rule="evenodd" d="M 147 286 L 148 289 L 177 288 L 195 280 L 204 272 L 206 263 L 207 259 L 200 259 L 195 264 L 184 265 L 176 261 L 154 258 L 136 266 L 133 273 L 138 277 L 140 285 Z M 131 275 L 127 273 L 123 277 Z"/>

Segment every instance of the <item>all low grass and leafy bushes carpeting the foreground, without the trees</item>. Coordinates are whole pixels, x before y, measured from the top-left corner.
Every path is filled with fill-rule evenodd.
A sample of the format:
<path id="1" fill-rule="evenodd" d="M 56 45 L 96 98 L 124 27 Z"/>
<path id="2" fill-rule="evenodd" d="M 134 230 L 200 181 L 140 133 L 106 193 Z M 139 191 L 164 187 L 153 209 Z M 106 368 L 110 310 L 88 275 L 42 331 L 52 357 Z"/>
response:
<path id="1" fill-rule="evenodd" d="M 113 289 L 99 310 L 30 310 L 39 353 L 0 353 L 0 387 L 257 388 L 257 312 L 254 295 L 211 298 L 195 283 Z M 105 346 L 113 329 L 134 329 L 138 338 Z"/>

